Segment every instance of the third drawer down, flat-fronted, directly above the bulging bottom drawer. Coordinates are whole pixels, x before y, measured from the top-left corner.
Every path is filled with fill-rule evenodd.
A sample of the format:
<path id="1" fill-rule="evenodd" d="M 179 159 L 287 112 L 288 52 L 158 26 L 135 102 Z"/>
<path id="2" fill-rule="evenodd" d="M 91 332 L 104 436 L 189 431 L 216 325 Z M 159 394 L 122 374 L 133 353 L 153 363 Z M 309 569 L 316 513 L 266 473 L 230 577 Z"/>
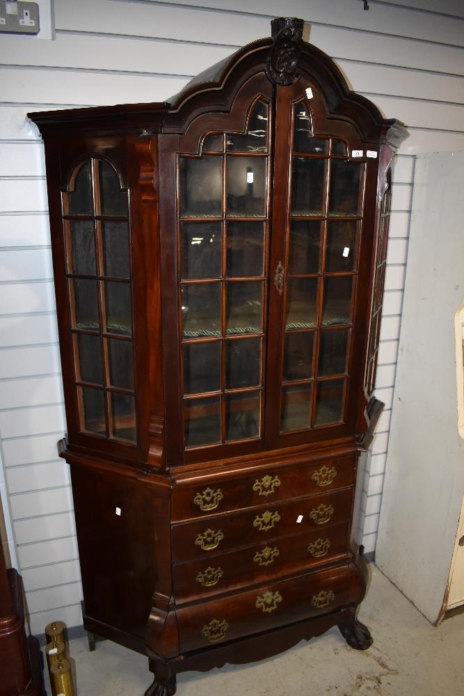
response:
<path id="1" fill-rule="evenodd" d="M 221 594 L 241 585 L 265 583 L 278 576 L 295 574 L 346 557 L 348 531 L 348 525 L 343 522 L 298 537 L 269 539 L 240 551 L 175 563 L 176 602 Z"/>

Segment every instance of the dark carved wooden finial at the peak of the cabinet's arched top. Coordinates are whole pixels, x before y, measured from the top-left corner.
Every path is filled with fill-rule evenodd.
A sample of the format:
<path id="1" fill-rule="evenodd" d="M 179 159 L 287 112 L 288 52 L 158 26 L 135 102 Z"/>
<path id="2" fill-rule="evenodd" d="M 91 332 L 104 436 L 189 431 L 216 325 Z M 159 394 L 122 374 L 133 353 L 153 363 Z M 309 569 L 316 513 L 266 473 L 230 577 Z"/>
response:
<path id="1" fill-rule="evenodd" d="M 291 85 L 303 46 L 303 19 L 278 17 L 271 21 L 274 45 L 267 65 L 269 77 L 279 85 Z"/>

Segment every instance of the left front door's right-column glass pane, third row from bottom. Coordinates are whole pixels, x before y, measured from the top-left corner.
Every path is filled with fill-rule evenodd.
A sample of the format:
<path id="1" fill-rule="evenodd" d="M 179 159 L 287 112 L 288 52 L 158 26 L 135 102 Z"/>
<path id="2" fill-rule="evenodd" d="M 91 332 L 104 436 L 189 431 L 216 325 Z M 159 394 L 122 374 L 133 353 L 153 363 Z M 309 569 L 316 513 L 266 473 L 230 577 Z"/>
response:
<path id="1" fill-rule="evenodd" d="M 262 283 L 227 283 L 226 331 L 262 332 Z"/>

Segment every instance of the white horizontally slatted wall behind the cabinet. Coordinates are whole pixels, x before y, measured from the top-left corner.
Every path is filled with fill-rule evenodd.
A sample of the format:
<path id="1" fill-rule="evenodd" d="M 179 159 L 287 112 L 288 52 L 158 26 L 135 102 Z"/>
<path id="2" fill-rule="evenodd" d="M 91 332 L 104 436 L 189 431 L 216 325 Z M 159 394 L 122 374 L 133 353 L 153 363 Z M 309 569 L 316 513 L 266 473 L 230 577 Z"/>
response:
<path id="1" fill-rule="evenodd" d="M 269 35 L 280 15 L 410 137 L 394 168 L 378 396 L 385 402 L 365 479 L 362 528 L 374 551 L 397 361 L 414 155 L 464 150 L 461 0 L 55 0 L 55 40 L 0 37 L 0 492 L 10 512 L 31 628 L 81 622 L 51 281 L 45 165 L 27 111 L 150 102 Z M 6 496 L 8 491 L 8 498 Z M 7 505 L 5 505 L 5 503 Z"/>

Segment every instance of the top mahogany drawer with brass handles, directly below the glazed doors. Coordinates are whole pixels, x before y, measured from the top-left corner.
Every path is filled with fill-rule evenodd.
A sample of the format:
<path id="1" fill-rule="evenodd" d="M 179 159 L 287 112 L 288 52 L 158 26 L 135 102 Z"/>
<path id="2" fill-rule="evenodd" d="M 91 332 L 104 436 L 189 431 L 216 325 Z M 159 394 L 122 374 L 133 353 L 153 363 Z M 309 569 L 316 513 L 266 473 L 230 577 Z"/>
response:
<path id="1" fill-rule="evenodd" d="M 259 467 L 253 474 L 208 482 L 173 491 L 173 520 L 203 517 L 216 512 L 255 507 L 275 500 L 309 496 L 351 486 L 354 482 L 353 454 L 319 460 L 300 466 Z"/>

